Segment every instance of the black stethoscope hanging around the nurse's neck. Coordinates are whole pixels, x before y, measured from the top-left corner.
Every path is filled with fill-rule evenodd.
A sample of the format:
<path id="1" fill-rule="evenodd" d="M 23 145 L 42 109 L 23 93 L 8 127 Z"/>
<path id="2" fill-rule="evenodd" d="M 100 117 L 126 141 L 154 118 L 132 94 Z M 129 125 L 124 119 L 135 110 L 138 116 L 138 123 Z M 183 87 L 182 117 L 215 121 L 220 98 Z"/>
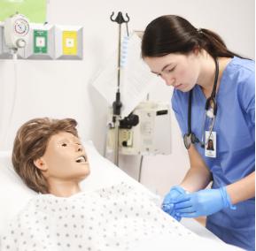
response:
<path id="1" fill-rule="evenodd" d="M 192 97 L 193 97 L 193 89 L 190 90 L 190 96 L 189 96 L 189 103 L 188 103 L 188 133 L 185 133 L 183 136 L 183 141 L 185 148 L 189 149 L 191 143 L 196 144 L 199 143 L 201 148 L 205 148 L 205 142 L 207 142 L 212 133 L 213 133 L 213 125 L 215 121 L 215 117 L 217 114 L 217 103 L 216 103 L 216 87 L 217 87 L 217 82 L 218 82 L 218 77 L 219 77 L 219 63 L 216 58 L 213 58 L 215 62 L 215 78 L 214 78 L 214 83 L 213 83 L 213 90 L 212 94 L 210 97 L 206 99 L 206 107 L 205 107 L 205 118 L 204 118 L 204 124 L 202 128 L 202 138 L 201 141 L 198 139 L 195 133 L 191 132 L 191 106 L 192 106 Z M 209 136 L 207 141 L 205 141 L 205 128 L 206 128 L 206 118 L 211 118 L 212 123 L 209 126 Z"/>

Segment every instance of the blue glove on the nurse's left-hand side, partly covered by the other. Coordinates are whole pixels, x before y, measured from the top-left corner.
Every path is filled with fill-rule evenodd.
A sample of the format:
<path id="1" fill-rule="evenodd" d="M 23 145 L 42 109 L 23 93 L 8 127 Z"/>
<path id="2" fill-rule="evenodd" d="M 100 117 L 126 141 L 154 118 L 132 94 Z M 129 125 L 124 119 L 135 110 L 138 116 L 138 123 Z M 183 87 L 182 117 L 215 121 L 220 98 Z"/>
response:
<path id="1" fill-rule="evenodd" d="M 175 215 L 174 202 L 175 199 L 177 199 L 180 195 L 185 193 L 186 191 L 182 188 L 182 186 L 173 186 L 170 189 L 170 192 L 165 196 L 164 201 L 162 203 L 162 209 L 171 217 L 174 217 L 177 221 L 180 221 L 182 217 L 178 217 Z"/>

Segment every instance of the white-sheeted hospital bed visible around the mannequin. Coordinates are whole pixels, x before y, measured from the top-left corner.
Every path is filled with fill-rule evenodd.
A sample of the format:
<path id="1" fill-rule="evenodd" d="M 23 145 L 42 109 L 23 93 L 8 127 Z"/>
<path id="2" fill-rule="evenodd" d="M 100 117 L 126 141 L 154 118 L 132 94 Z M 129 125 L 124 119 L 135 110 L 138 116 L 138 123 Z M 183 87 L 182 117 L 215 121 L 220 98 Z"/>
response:
<path id="1" fill-rule="evenodd" d="M 94 191 L 106 186 L 117 185 L 120 181 L 128 182 L 138 189 L 146 189 L 135 179 L 130 178 L 124 171 L 121 171 L 117 166 L 101 156 L 91 141 L 85 142 L 84 147 L 89 157 L 90 175 L 81 182 L 82 190 Z M 0 236 L 4 234 L 4 228 L 8 221 L 19 213 L 35 195 L 36 193 L 25 186 L 21 179 L 19 179 L 19 176 L 13 171 L 11 152 L 0 151 Z M 206 240 L 218 243 L 218 250 L 241 250 L 237 247 L 226 245 L 194 219 L 182 219 L 181 224 L 190 229 L 190 231 L 206 238 Z"/>

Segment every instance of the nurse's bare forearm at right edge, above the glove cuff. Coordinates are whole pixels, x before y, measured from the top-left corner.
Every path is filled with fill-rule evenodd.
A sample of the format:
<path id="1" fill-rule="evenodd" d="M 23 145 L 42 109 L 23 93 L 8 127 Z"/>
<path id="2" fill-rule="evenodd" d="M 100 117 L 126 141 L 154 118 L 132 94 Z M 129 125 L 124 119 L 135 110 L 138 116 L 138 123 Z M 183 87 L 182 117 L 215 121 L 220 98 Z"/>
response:
<path id="1" fill-rule="evenodd" d="M 227 186 L 232 204 L 255 197 L 255 171 L 237 182 Z"/>

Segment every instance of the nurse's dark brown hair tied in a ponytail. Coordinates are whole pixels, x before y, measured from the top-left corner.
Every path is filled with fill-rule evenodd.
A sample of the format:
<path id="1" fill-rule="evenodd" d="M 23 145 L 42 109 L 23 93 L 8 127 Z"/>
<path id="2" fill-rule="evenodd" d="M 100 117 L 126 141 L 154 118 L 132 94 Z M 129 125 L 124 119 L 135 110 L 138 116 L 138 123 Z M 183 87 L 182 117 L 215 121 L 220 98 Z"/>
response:
<path id="1" fill-rule="evenodd" d="M 189 54 L 196 48 L 205 49 L 213 58 L 240 57 L 227 48 L 220 35 L 205 28 L 197 29 L 188 20 L 175 15 L 161 16 L 146 27 L 142 57 L 162 57 L 169 53 Z"/>

